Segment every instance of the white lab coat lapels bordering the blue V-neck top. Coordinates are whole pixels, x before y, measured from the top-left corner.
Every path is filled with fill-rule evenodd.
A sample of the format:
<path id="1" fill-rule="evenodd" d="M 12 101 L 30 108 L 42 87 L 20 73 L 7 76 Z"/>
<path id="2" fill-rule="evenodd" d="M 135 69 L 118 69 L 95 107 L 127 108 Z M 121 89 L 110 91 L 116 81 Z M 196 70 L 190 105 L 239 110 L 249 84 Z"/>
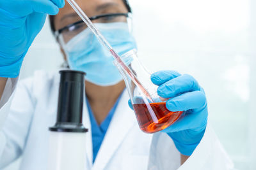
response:
<path id="1" fill-rule="evenodd" d="M 108 131 L 106 132 L 102 145 L 100 146 L 100 150 L 92 169 L 100 170 L 107 166 L 111 157 L 113 157 L 114 153 L 118 149 L 118 146 L 122 144 L 127 133 L 134 124 L 136 124 L 136 117 L 131 108 L 129 108 L 128 100 L 129 95 L 127 90 L 125 90 L 109 124 Z M 92 135 L 90 135 L 90 152 L 88 153 L 90 154 L 90 162 L 92 162 Z"/>

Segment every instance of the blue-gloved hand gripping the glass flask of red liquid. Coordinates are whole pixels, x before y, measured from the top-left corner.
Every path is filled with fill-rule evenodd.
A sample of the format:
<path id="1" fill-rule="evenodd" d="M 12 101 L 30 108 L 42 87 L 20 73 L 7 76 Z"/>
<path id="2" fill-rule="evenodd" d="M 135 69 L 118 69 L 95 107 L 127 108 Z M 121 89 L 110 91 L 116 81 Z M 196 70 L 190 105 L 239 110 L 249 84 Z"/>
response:
<path id="1" fill-rule="evenodd" d="M 192 76 L 175 71 L 158 71 L 151 80 L 158 85 L 157 94 L 166 101 L 170 111 L 184 111 L 182 117 L 161 132 L 173 139 L 183 155 L 191 155 L 204 136 L 207 125 L 207 101 L 202 87 Z"/>

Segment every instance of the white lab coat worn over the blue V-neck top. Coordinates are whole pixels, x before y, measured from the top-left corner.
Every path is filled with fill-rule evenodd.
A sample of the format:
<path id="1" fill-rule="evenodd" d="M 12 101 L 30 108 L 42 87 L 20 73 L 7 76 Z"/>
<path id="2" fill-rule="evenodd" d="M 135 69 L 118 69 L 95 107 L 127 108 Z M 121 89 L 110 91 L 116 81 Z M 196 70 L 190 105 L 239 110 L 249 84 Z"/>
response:
<path id="1" fill-rule="evenodd" d="M 0 169 L 20 155 L 23 157 L 20 170 L 46 169 L 48 128 L 56 122 L 59 76 L 58 73 L 38 71 L 33 78 L 18 83 L 13 99 L 10 95 L 4 97 L 10 99 L 0 109 L 0 121 L 4 120 L 4 115 L 9 114 L 0 133 Z M 7 86 L 6 91 L 13 90 L 13 83 L 9 82 Z M 209 125 L 195 152 L 180 166 L 180 153 L 172 139 L 163 132 L 154 135 L 143 133 L 138 127 L 134 112 L 127 104 L 128 99 L 125 91 L 94 164 L 91 131 L 86 134 L 86 169 L 232 169 L 232 161 Z M 1 102 L 4 103 L 4 99 Z M 86 103 L 83 124 L 88 129 L 91 128 Z"/>

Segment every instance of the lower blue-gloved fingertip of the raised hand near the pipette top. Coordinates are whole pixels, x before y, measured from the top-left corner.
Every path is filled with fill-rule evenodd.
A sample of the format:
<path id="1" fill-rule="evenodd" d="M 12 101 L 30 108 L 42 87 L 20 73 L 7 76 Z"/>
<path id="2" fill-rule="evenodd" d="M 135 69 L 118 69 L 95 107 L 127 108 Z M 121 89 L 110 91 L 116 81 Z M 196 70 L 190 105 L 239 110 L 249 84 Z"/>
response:
<path id="1" fill-rule="evenodd" d="M 43 1 L 29 1 L 31 2 L 31 8 L 38 13 L 47 13 L 49 15 L 56 15 L 59 12 L 59 8 L 50 0 Z"/>

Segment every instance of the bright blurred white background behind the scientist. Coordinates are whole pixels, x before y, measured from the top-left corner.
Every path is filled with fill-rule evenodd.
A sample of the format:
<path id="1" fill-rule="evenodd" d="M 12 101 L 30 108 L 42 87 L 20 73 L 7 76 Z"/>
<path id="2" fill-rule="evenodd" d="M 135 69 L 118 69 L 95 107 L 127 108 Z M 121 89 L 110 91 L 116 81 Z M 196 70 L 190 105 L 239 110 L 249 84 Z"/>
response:
<path id="1" fill-rule="evenodd" d="M 130 4 L 145 67 L 193 75 L 207 94 L 209 122 L 236 168 L 256 169 L 256 1 L 130 0 Z M 20 78 L 36 69 L 56 71 L 62 62 L 47 20 Z M 4 170 L 18 165 L 19 160 Z"/>

